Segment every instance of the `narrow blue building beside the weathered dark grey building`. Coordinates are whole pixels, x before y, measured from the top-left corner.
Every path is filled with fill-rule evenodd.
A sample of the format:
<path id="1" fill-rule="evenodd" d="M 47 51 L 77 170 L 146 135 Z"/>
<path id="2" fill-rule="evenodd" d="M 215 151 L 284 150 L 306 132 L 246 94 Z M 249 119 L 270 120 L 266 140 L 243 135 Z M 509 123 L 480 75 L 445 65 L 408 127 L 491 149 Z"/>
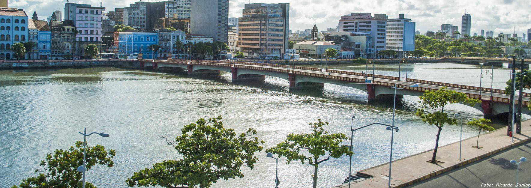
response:
<path id="1" fill-rule="evenodd" d="M 47 21 L 29 20 L 29 41 L 35 42 L 36 46 L 27 52 L 30 59 L 50 59 L 52 54 L 52 31 Z"/>

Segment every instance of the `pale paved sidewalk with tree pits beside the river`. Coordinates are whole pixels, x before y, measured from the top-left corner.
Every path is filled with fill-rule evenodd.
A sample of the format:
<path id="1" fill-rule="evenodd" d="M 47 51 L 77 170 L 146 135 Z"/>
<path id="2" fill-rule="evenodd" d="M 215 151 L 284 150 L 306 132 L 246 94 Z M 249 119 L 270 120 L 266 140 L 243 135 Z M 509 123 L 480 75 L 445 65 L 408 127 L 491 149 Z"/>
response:
<path id="1" fill-rule="evenodd" d="M 404 187 L 427 178 L 439 175 L 459 166 L 491 156 L 494 153 L 517 146 L 531 140 L 531 121 L 522 122 L 521 134 L 515 134 L 515 142 L 507 136 L 507 127 L 482 134 L 479 136 L 479 147 L 476 146 L 477 136 L 463 140 L 461 160 L 459 158 L 459 141 L 439 147 L 437 160 L 443 164 L 428 163 L 433 155 L 433 149 L 413 156 L 394 160 L 392 164 L 391 186 Z M 388 187 L 389 163 L 359 170 L 357 174 L 369 175 L 371 178 L 351 183 L 350 187 Z M 336 187 L 348 187 L 348 183 Z"/>

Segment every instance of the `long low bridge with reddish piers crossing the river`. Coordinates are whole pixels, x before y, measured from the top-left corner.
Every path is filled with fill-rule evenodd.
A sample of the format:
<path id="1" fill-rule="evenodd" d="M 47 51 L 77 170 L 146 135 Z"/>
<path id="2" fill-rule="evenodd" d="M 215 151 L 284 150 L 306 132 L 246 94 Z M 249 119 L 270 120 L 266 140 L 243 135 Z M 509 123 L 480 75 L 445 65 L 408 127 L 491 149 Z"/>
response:
<path id="1" fill-rule="evenodd" d="M 485 117 L 507 115 L 509 113 L 510 96 L 504 90 L 493 89 L 491 96 L 490 88 L 479 88 L 465 86 L 461 84 L 434 82 L 418 79 L 403 79 L 396 76 L 364 74 L 359 72 L 349 72 L 331 69 L 320 69 L 313 67 L 279 65 L 270 63 L 234 62 L 234 61 L 174 61 L 139 59 L 140 67 L 146 69 L 178 69 L 188 74 L 219 74 L 220 71 L 232 74 L 233 82 L 245 80 L 264 80 L 265 76 L 274 76 L 285 79 L 289 82 L 289 89 L 322 88 L 324 83 L 336 84 L 365 91 L 369 96 L 369 101 L 388 100 L 393 97 L 395 90 L 391 87 L 405 87 L 397 90 L 397 97 L 404 95 L 421 96 L 425 91 L 439 90 L 447 87 L 449 90 L 465 93 L 470 98 L 480 99 L 481 104 L 476 104 L 474 108 L 481 110 Z M 367 78 L 367 80 L 365 79 Z M 418 88 L 409 88 L 412 84 L 418 84 Z M 482 95 L 480 95 L 480 91 Z M 529 114 L 527 105 L 531 93 L 523 94 L 521 105 L 522 112 Z M 517 98 L 517 97 L 515 97 Z M 518 104 L 518 100 L 515 100 Z"/>

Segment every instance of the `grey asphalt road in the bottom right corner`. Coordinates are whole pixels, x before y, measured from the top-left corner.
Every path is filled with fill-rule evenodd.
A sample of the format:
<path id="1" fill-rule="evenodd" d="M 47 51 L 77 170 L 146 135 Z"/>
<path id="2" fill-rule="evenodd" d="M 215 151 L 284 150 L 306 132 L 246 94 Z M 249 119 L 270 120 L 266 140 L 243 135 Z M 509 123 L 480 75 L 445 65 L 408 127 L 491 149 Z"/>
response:
<path id="1" fill-rule="evenodd" d="M 516 187 L 516 165 L 510 164 L 509 161 L 511 159 L 519 161 L 521 157 L 526 157 L 528 161 L 520 164 L 520 184 L 524 184 L 520 187 L 530 187 L 531 142 L 456 168 L 411 187 Z"/>

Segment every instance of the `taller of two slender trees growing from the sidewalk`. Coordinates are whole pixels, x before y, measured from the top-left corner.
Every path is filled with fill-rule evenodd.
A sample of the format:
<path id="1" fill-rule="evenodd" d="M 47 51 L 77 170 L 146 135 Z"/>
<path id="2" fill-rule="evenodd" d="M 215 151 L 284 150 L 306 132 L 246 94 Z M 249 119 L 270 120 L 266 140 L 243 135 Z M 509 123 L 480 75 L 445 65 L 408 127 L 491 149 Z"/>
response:
<path id="1" fill-rule="evenodd" d="M 419 99 L 422 100 L 421 108 L 417 109 L 415 114 L 418 117 L 421 117 L 424 123 L 435 125 L 439 129 L 436 135 L 435 149 L 433 150 L 433 156 L 431 160 L 431 163 L 436 164 L 435 157 L 439 147 L 439 136 L 441 135 L 442 127 L 445 124 L 457 125 L 457 120 L 455 118 L 448 117 L 448 113 L 444 112 L 444 106 L 455 103 L 473 106 L 481 101 L 478 99 L 468 98 L 465 93 L 447 90 L 446 87 L 443 87 L 440 90 L 426 91 L 422 96 L 419 97 Z M 426 112 L 426 109 L 428 108 L 436 109 L 436 111 Z"/>

